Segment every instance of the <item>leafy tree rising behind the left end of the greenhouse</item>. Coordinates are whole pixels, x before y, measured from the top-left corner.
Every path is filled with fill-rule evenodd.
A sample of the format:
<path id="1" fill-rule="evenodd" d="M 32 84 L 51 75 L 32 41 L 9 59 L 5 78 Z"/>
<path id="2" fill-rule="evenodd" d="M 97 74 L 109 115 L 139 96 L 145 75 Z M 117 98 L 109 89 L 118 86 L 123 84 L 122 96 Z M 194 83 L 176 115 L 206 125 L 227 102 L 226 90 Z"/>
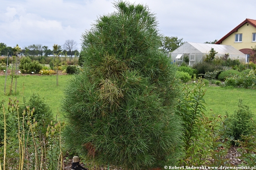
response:
<path id="1" fill-rule="evenodd" d="M 178 39 L 177 36 L 164 36 L 161 39 L 161 50 L 164 52 L 172 52 L 184 44 L 182 40 L 183 38 Z"/>

